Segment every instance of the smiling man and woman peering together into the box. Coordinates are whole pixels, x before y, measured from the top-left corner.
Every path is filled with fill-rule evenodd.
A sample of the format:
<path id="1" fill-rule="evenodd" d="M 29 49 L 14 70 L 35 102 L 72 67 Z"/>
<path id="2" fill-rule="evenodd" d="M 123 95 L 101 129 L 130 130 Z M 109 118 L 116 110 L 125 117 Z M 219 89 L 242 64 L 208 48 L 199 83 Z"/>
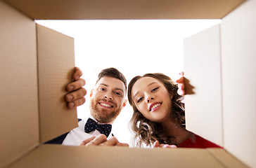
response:
<path id="1" fill-rule="evenodd" d="M 82 74 L 79 69 L 76 73 Z M 79 80 L 82 81 L 79 78 L 77 83 Z M 183 96 L 179 95 L 184 94 L 184 77 L 177 80 L 177 83 L 179 89 L 168 76 L 147 73 L 134 77 L 127 88 L 127 81 L 120 71 L 114 68 L 103 69 L 90 93 L 90 118 L 87 122 L 80 120 L 79 127 L 58 137 L 57 144 L 129 146 L 117 141 L 111 133 L 111 124 L 127 104 L 125 95 L 128 90 L 129 104 L 134 109 L 130 124 L 137 146 L 222 148 L 185 129 L 184 104 L 181 103 Z M 79 87 L 82 85 L 76 88 Z M 72 97 L 77 99 L 81 95 L 74 94 Z M 68 106 L 73 104 L 75 107 L 84 102 L 83 97 L 82 100 L 72 102 L 69 96 L 66 97 Z M 56 144 L 56 139 L 49 143 Z"/>

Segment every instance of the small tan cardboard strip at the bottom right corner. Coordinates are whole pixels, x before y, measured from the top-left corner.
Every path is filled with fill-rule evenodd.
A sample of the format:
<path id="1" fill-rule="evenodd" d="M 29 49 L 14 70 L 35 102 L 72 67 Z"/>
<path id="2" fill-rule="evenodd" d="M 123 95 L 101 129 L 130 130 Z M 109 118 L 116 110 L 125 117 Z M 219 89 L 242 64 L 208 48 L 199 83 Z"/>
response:
<path id="1" fill-rule="evenodd" d="M 218 148 L 207 148 L 206 150 L 209 151 L 217 160 L 219 160 L 219 162 L 222 162 L 225 167 L 247 167 L 243 164 L 243 162 L 240 162 L 224 150 L 219 150 Z"/>

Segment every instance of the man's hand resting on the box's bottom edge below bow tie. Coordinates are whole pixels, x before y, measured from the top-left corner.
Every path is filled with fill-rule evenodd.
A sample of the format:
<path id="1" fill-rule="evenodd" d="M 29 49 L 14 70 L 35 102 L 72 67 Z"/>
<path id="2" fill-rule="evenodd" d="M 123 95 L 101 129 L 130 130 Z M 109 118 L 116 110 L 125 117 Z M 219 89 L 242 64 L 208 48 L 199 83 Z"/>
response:
<path id="1" fill-rule="evenodd" d="M 105 134 L 99 134 L 97 137 L 92 136 L 88 139 L 84 139 L 79 146 L 127 146 L 129 144 L 120 143 L 115 137 L 107 139 Z"/>

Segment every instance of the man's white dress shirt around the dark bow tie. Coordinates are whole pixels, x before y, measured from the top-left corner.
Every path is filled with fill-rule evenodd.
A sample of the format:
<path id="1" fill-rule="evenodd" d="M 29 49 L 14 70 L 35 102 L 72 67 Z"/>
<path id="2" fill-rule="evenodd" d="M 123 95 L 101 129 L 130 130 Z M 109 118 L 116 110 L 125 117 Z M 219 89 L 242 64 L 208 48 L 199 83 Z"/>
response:
<path id="1" fill-rule="evenodd" d="M 91 118 L 92 120 L 95 120 L 95 118 L 93 118 L 92 116 L 90 116 L 89 118 Z M 98 123 L 97 120 L 95 120 L 96 123 Z M 89 137 L 95 135 L 99 135 L 101 134 L 101 132 L 99 132 L 98 130 L 86 133 L 84 132 L 84 125 L 85 123 L 87 123 L 87 120 L 80 120 L 78 122 L 78 127 L 74 128 L 73 130 L 71 130 L 67 137 L 65 137 L 64 141 L 63 141 L 63 145 L 65 146 L 79 146 L 79 144 L 84 140 L 84 139 L 88 139 Z M 101 123 L 98 123 L 101 124 Z M 108 136 L 108 139 L 112 136 L 112 130 Z"/>

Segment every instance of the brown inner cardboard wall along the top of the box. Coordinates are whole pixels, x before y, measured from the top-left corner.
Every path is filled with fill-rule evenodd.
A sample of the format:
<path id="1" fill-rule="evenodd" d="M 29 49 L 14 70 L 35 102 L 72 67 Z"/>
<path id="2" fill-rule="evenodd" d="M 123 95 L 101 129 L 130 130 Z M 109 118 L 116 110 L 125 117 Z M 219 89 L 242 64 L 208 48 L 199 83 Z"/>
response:
<path id="1" fill-rule="evenodd" d="M 220 19 L 244 0 L 4 0 L 35 20 Z"/>

